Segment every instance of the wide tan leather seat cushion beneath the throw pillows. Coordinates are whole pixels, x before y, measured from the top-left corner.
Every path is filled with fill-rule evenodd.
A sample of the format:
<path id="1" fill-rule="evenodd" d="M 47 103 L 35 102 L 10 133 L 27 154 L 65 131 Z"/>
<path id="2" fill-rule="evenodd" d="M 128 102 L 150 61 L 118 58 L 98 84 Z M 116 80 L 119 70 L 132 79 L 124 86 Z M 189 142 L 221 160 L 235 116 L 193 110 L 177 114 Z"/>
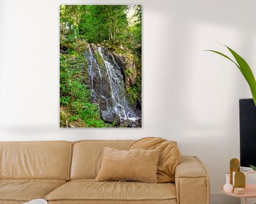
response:
<path id="1" fill-rule="evenodd" d="M 68 181 L 46 196 L 46 200 L 176 200 L 174 183 L 135 181 Z M 105 202 L 105 201 L 104 201 Z M 104 203 L 103 202 L 103 203 Z"/>

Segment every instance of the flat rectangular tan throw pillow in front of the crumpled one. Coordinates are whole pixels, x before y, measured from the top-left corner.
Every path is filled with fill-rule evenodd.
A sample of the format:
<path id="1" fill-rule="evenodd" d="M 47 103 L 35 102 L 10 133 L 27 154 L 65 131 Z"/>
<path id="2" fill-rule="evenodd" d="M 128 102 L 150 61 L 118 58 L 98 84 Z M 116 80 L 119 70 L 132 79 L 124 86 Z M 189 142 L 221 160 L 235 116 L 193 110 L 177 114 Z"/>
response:
<path id="1" fill-rule="evenodd" d="M 95 181 L 142 181 L 157 183 L 159 149 L 119 150 L 104 147 Z"/>

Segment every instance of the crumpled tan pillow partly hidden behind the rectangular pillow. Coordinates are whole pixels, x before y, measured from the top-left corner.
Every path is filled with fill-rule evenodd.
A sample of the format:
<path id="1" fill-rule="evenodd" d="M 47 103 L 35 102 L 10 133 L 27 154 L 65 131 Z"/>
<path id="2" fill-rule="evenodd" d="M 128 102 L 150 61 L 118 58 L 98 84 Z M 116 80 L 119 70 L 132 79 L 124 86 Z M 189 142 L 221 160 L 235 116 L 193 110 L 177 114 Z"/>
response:
<path id="1" fill-rule="evenodd" d="M 157 167 L 158 182 L 173 182 L 176 166 L 181 163 L 181 154 L 176 142 L 160 137 L 145 137 L 134 142 L 129 149 L 160 149 L 159 164 Z"/>

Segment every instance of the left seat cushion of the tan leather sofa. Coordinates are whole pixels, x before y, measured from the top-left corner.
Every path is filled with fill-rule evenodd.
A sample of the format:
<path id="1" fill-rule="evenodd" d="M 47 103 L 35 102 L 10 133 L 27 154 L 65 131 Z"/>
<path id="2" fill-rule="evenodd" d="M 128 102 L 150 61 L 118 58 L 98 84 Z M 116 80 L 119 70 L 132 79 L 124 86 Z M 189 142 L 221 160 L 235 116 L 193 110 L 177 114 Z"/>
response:
<path id="1" fill-rule="evenodd" d="M 66 181 L 51 179 L 0 179 L 0 201 L 44 198 Z"/>

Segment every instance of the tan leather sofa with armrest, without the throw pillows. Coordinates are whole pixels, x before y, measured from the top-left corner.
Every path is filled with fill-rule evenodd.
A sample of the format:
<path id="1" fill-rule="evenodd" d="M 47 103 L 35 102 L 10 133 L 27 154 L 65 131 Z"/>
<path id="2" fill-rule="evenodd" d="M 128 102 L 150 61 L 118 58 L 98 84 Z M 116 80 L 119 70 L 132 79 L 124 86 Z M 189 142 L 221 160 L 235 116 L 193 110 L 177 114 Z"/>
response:
<path id="1" fill-rule="evenodd" d="M 44 198 L 48 203 L 208 204 L 208 173 L 182 156 L 175 183 L 94 181 L 104 146 L 127 149 L 133 140 L 0 142 L 0 204 Z"/>

